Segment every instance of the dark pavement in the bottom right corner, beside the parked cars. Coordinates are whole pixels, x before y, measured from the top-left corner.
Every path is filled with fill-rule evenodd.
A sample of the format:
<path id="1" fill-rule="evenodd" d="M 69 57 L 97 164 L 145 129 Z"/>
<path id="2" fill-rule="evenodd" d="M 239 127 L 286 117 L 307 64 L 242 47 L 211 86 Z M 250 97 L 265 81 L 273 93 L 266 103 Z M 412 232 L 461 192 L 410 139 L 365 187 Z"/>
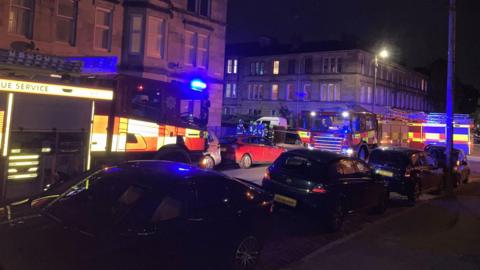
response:
<path id="1" fill-rule="evenodd" d="M 331 242 L 283 270 L 480 269 L 480 179 Z"/>

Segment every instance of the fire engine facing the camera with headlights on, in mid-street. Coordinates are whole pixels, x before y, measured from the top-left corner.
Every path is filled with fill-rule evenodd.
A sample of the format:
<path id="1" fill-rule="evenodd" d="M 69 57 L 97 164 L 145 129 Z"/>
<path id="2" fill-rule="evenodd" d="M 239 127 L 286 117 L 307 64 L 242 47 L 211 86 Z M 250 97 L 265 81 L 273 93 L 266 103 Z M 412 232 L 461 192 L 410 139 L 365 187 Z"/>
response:
<path id="1" fill-rule="evenodd" d="M 378 145 L 375 114 L 361 108 L 302 112 L 298 134 L 309 148 L 366 159 Z"/>

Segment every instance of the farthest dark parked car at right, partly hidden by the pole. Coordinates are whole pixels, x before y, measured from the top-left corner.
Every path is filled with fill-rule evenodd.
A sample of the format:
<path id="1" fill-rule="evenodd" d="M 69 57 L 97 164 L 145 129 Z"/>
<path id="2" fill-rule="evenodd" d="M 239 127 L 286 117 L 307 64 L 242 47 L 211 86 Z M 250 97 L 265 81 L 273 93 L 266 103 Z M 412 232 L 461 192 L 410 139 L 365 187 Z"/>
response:
<path id="1" fill-rule="evenodd" d="M 446 169 L 445 146 L 428 145 L 425 147 L 425 151 L 437 161 L 440 168 Z M 458 186 L 468 183 L 470 166 L 468 166 L 467 156 L 461 149 L 453 149 L 452 156 L 452 168 L 455 175 L 454 184 Z"/>

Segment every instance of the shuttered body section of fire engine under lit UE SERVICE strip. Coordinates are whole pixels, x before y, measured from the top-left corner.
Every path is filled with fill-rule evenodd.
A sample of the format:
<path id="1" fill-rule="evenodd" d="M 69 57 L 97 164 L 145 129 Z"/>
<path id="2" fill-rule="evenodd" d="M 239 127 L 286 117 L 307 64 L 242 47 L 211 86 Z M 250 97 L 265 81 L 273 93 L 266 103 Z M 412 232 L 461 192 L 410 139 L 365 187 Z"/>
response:
<path id="1" fill-rule="evenodd" d="M 113 91 L 0 78 L 0 201 L 90 168 L 95 106 Z"/>

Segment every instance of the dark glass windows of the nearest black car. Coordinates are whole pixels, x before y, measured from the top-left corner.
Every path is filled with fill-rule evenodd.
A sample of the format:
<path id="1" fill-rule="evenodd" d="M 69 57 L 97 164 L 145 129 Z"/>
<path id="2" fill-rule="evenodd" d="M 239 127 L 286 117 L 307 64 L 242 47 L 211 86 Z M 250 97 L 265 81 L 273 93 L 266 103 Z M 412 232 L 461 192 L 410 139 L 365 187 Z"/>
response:
<path id="1" fill-rule="evenodd" d="M 113 171 L 112 171 L 113 170 Z M 176 185 L 139 184 L 139 173 L 121 168 L 100 171 L 73 185 L 44 211 L 64 224 L 87 232 L 155 223 L 178 217 L 184 195 Z M 142 182 L 143 183 L 143 182 Z"/>

